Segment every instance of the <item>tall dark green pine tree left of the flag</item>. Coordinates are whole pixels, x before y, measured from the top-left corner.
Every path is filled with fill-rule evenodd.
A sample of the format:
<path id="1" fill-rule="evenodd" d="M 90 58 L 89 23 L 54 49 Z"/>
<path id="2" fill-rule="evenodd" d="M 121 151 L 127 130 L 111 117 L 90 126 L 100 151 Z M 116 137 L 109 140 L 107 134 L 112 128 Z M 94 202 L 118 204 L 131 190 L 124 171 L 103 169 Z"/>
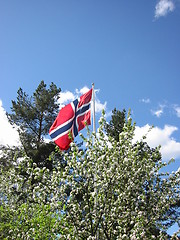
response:
<path id="1" fill-rule="evenodd" d="M 46 143 L 44 137 L 59 111 L 57 100 L 60 91 L 61 89 L 54 83 L 47 88 L 43 80 L 32 96 L 28 96 L 22 88 L 19 88 L 17 100 L 12 101 L 12 113 L 7 114 L 10 123 L 18 127 L 26 155 L 39 167 L 46 166 L 50 170 L 52 163 L 48 157 L 55 145 Z"/>

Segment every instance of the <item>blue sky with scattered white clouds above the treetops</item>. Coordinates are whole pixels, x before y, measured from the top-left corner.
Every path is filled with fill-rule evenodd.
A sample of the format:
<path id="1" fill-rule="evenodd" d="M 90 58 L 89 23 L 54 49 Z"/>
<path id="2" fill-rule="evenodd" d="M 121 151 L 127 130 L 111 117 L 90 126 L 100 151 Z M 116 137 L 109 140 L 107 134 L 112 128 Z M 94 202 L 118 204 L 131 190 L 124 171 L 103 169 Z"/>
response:
<path id="1" fill-rule="evenodd" d="M 179 0 L 0 0 L 0 143 L 17 138 L 4 113 L 19 87 L 32 94 L 43 79 L 71 100 L 94 82 L 97 118 L 131 108 L 136 136 L 154 125 L 149 144 L 177 170 L 179 25 Z"/>

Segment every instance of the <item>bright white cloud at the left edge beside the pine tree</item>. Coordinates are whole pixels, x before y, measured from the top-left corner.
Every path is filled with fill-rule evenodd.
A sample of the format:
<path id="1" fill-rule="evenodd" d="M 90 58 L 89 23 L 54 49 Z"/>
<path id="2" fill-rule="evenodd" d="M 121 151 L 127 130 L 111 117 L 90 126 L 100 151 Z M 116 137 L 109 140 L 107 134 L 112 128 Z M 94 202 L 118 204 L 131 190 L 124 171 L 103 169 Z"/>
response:
<path id="1" fill-rule="evenodd" d="M 19 135 L 15 128 L 8 122 L 6 111 L 0 100 L 0 145 L 18 146 Z"/>

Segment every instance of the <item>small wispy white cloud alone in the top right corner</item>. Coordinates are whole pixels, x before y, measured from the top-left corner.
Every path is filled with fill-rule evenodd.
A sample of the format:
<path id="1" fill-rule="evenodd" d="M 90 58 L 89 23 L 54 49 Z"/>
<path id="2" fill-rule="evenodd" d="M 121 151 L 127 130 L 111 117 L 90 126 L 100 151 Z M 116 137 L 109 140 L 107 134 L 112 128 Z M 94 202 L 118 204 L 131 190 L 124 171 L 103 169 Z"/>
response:
<path id="1" fill-rule="evenodd" d="M 155 18 L 166 16 L 169 12 L 173 12 L 175 5 L 172 0 L 160 0 L 155 6 Z"/>

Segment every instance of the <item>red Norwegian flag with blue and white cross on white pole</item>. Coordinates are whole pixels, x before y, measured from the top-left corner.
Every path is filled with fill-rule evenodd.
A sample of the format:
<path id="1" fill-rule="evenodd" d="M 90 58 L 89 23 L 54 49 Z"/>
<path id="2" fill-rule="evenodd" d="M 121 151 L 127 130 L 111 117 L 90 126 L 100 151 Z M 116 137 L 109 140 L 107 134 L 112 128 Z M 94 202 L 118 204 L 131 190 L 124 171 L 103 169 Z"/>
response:
<path id="1" fill-rule="evenodd" d="M 59 111 L 49 135 L 61 150 L 67 150 L 78 132 L 91 124 L 91 98 L 92 89 Z"/>

